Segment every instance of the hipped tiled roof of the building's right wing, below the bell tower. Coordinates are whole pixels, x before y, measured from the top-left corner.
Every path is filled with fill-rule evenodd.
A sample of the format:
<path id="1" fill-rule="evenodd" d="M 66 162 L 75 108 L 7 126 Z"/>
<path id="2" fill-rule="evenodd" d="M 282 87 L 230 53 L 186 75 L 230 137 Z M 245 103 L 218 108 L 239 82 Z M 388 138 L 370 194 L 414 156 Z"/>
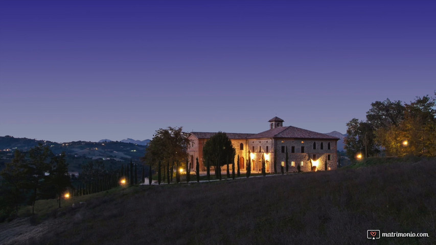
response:
<path id="1" fill-rule="evenodd" d="M 313 132 L 310 130 L 300 129 L 300 128 L 296 128 L 296 127 L 292 127 L 292 126 L 278 127 L 278 128 L 270 129 L 270 130 L 264 131 L 264 132 L 259 133 L 259 134 L 251 135 L 248 138 L 250 138 L 250 139 L 256 139 L 256 138 L 300 138 L 300 139 L 304 138 L 304 139 L 307 139 L 307 138 L 312 138 L 312 139 L 336 139 L 336 140 L 338 140 L 338 138 L 327 135 L 327 134 L 317 133 L 317 132 Z"/>

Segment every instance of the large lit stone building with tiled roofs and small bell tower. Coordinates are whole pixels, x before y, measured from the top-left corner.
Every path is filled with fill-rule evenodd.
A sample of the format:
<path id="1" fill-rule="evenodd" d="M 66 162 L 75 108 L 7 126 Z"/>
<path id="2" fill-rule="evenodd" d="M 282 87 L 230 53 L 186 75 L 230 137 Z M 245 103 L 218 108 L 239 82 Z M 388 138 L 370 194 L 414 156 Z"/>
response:
<path id="1" fill-rule="evenodd" d="M 264 155 L 266 171 L 280 173 L 280 166 L 286 164 L 286 150 L 290 172 L 297 171 L 298 165 L 302 171 L 337 168 L 338 138 L 292 126 L 283 127 L 283 119 L 277 116 L 270 119 L 268 123 L 269 130 L 258 134 L 226 133 L 236 149 L 235 166 L 239 156 L 239 167 L 242 171 L 246 169 L 247 164 L 251 164 L 251 171 L 261 171 L 262 155 Z M 192 143 L 188 148 L 188 154 L 193 170 L 195 159 L 198 157 L 200 170 L 205 171 L 203 145 L 215 134 L 191 132 L 189 139 Z"/>

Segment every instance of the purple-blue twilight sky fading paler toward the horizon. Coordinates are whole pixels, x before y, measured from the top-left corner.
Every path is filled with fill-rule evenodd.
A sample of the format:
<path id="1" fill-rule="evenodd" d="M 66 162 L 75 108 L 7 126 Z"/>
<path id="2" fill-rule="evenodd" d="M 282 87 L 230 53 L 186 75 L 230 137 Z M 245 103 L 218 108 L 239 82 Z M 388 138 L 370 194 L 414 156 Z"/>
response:
<path id="1" fill-rule="evenodd" d="M 0 136 L 345 133 L 435 78 L 436 1 L 0 0 Z"/>

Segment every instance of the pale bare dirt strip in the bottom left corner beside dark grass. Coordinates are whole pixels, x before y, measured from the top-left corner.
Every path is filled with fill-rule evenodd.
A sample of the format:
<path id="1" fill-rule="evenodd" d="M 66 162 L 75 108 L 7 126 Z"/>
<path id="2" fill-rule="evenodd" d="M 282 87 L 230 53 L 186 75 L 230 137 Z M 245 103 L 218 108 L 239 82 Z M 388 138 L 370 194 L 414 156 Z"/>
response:
<path id="1" fill-rule="evenodd" d="M 16 218 L 9 223 L 2 223 L 0 224 L 0 244 L 24 244 L 29 239 L 49 232 L 52 227 L 61 222 L 61 218 L 49 218 L 36 226 L 32 226 L 30 218 L 24 217 Z"/>

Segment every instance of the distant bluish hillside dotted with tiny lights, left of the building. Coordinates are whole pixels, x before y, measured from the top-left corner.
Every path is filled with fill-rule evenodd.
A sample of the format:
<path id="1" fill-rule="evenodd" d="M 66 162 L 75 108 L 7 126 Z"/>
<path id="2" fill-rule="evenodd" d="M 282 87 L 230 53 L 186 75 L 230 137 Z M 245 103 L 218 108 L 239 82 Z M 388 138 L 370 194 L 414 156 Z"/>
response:
<path id="1" fill-rule="evenodd" d="M 65 152 L 66 160 L 69 164 L 68 170 L 70 171 L 80 171 L 81 164 L 96 159 L 104 160 L 108 163 L 107 165 L 113 167 L 130 162 L 130 160 L 137 162 L 144 156 L 147 148 L 145 145 L 119 141 L 57 143 L 47 140 L 2 136 L 0 137 L 0 169 L 4 167 L 6 162 L 12 160 L 15 150 L 27 152 L 38 144 L 49 146 L 54 154 Z"/>

